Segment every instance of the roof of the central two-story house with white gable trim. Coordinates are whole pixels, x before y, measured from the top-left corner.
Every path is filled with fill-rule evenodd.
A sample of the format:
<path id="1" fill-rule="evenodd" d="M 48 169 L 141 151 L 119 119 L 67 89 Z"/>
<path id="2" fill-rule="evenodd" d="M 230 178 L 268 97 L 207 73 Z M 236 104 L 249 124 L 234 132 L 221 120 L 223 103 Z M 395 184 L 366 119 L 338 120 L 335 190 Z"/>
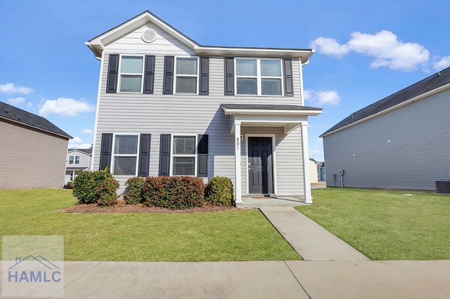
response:
<path id="1" fill-rule="evenodd" d="M 113 41 L 120 39 L 122 36 L 133 32 L 134 30 L 151 22 L 165 32 L 173 36 L 182 44 L 192 48 L 197 55 L 231 55 L 231 56 L 261 56 L 261 57 L 284 57 L 284 58 L 300 58 L 302 63 L 307 63 L 309 58 L 314 54 L 311 49 L 296 49 L 296 48 L 245 48 L 245 47 L 227 47 L 227 46 L 202 46 L 193 39 L 179 32 L 177 29 L 161 20 L 150 11 L 144 11 L 140 15 L 127 20 L 114 27 L 113 29 L 100 34 L 94 39 L 86 42 L 96 58 L 101 58 L 101 54 L 105 46 L 108 46 Z"/>

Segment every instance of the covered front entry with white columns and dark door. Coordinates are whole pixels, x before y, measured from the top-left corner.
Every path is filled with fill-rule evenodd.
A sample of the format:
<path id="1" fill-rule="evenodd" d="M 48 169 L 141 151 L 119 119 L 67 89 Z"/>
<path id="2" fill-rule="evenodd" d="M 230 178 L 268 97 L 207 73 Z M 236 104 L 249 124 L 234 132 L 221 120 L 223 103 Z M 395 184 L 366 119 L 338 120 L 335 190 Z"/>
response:
<path id="1" fill-rule="evenodd" d="M 275 165 L 275 152 L 278 150 L 272 138 L 266 136 L 248 136 L 248 165 L 241 164 L 243 148 L 241 147 L 244 135 L 241 135 L 241 127 L 271 127 L 283 128 L 283 135 L 301 128 L 301 140 L 297 145 L 302 156 L 302 164 L 299 166 L 302 175 L 302 195 L 306 203 L 311 203 L 311 185 L 309 180 L 309 154 L 308 154 L 308 117 L 321 114 L 322 110 L 314 107 L 300 105 L 263 105 L 263 104 L 221 104 L 225 115 L 230 116 L 230 133 L 234 134 L 234 192 L 236 204 L 242 203 L 242 195 L 248 194 L 276 194 L 285 193 L 278 190 L 278 165 Z M 251 131 L 251 130 L 250 130 Z M 256 131 L 256 130 L 255 130 Z M 261 133 L 261 131 L 259 131 Z M 252 133 L 250 133 L 252 134 Z M 265 133 L 264 133 L 265 134 Z M 274 142 L 274 143 L 272 143 Z M 283 152 L 283 151 L 281 151 Z M 286 157 L 283 157 L 285 160 Z M 245 168 L 243 168 L 245 167 Z M 242 171 L 242 172 L 241 172 Z M 248 172 L 247 180 L 242 180 L 242 174 Z M 292 171 L 291 171 L 292 173 Z M 285 175 L 289 180 L 289 175 Z M 243 188 L 243 184 L 248 189 Z M 244 185 L 244 186 L 245 186 Z M 292 185 L 292 184 L 291 184 Z"/>

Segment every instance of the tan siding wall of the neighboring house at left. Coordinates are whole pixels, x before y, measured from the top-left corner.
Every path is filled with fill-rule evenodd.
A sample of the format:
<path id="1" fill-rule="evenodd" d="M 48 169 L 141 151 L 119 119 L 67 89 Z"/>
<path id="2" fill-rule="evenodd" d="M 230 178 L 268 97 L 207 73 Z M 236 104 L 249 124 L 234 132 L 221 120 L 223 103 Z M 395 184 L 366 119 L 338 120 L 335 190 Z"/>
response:
<path id="1" fill-rule="evenodd" d="M 0 189 L 63 187 L 68 139 L 0 120 Z"/>

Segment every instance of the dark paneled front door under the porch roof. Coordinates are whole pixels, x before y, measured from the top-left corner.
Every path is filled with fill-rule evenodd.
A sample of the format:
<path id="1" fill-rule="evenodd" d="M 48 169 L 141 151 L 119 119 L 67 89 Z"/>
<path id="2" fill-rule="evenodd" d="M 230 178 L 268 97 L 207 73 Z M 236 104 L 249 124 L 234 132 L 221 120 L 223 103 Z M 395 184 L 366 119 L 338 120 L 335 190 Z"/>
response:
<path id="1" fill-rule="evenodd" d="M 248 138 L 248 191 L 250 194 L 273 194 L 272 138 Z"/>

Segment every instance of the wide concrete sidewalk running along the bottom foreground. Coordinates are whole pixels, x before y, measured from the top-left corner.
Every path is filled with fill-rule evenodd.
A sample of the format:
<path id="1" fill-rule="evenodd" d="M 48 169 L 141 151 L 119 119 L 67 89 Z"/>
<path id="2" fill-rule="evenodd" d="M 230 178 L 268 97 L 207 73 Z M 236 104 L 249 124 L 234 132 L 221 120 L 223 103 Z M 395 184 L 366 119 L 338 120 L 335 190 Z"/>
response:
<path id="1" fill-rule="evenodd" d="M 65 262 L 65 298 L 449 298 L 450 260 Z"/>

